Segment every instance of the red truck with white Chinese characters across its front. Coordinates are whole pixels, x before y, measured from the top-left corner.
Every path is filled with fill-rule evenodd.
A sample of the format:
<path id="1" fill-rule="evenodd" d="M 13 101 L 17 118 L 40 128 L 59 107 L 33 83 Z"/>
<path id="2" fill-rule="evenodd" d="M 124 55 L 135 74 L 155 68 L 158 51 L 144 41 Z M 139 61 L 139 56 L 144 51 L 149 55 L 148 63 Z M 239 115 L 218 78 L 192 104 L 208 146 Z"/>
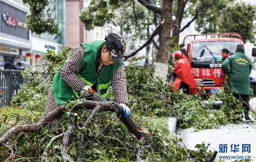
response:
<path id="1" fill-rule="evenodd" d="M 185 46 L 185 39 L 188 37 L 194 37 L 194 40 L 186 44 L 187 49 L 182 48 L 181 51 L 189 60 L 195 82 L 206 91 L 206 94 L 218 93 L 219 89 L 223 89 L 219 83 L 222 67 L 221 50 L 225 48 L 235 53 L 236 46 L 243 44 L 242 36 L 238 33 L 188 35 L 184 38 L 181 47 Z M 196 88 L 189 88 L 191 94 L 198 92 Z"/>

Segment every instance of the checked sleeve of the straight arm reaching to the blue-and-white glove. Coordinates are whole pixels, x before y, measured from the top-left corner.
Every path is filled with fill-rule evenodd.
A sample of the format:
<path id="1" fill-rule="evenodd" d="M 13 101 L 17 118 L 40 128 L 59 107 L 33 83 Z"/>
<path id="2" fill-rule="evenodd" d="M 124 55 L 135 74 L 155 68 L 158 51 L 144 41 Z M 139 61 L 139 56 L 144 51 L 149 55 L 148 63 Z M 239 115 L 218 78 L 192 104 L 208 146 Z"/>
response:
<path id="1" fill-rule="evenodd" d="M 112 75 L 111 87 L 113 89 L 115 102 L 118 104 L 124 103 L 129 106 L 125 74 L 123 72 L 122 65 L 120 65 L 120 67 Z"/>

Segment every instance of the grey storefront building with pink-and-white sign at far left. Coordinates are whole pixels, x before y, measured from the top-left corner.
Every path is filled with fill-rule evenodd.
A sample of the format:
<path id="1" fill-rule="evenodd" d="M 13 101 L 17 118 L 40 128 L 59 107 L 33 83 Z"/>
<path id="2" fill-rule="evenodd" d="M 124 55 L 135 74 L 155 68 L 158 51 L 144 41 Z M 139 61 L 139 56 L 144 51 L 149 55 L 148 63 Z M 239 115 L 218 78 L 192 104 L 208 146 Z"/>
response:
<path id="1" fill-rule="evenodd" d="M 28 8 L 16 1 L 0 0 L 0 67 L 11 59 L 26 61 L 31 50 L 30 31 L 27 30 Z"/>

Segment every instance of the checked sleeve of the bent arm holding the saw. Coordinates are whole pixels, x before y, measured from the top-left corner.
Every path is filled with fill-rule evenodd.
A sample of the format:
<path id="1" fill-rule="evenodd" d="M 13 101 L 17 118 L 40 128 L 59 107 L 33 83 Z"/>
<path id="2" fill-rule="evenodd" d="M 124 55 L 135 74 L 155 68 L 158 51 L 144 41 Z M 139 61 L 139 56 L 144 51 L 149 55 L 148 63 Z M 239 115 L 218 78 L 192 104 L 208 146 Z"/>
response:
<path id="1" fill-rule="evenodd" d="M 84 49 L 82 46 L 76 48 L 73 55 L 70 56 L 67 62 L 61 68 L 61 78 L 67 83 L 69 87 L 74 89 L 77 93 L 80 93 L 81 89 L 78 87 L 84 87 L 86 82 L 82 81 L 77 73 L 82 68 L 82 58 L 84 55 Z M 78 86 L 78 87 L 76 87 Z"/>

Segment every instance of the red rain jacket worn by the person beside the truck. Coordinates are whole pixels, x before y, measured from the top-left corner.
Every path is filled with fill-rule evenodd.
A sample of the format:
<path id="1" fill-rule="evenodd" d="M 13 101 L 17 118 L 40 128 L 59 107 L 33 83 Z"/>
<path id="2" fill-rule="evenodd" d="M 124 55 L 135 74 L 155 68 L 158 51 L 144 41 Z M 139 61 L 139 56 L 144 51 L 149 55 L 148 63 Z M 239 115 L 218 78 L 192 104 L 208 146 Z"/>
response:
<path id="1" fill-rule="evenodd" d="M 197 87 L 197 84 L 191 74 L 189 62 L 186 56 L 183 55 L 182 58 L 176 62 L 174 72 L 176 72 L 177 78 L 175 79 L 173 87 L 176 87 L 176 89 L 179 89 L 182 81 L 192 88 Z"/>

